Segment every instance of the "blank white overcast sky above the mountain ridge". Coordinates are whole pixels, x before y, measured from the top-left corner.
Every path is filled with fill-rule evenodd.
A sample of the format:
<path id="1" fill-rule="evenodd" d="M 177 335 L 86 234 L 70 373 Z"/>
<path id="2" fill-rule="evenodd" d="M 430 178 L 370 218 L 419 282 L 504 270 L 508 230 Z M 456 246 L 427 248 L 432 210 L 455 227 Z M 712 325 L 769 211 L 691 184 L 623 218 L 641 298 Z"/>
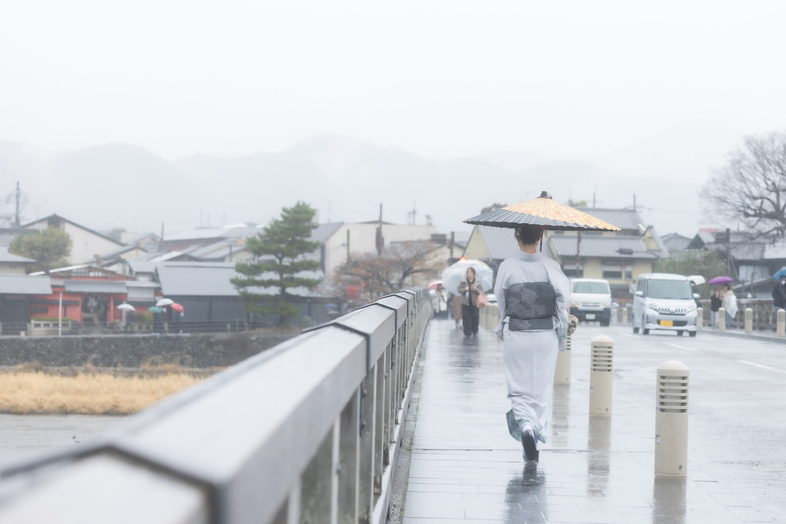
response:
<path id="1" fill-rule="evenodd" d="M 426 156 L 786 127 L 784 2 L 3 2 L 0 140 Z"/>

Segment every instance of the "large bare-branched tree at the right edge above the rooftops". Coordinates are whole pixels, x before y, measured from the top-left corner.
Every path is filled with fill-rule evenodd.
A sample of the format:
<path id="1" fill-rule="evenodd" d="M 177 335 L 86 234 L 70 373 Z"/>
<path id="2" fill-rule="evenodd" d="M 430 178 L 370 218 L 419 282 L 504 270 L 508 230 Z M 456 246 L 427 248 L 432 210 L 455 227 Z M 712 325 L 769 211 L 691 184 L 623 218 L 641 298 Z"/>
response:
<path id="1" fill-rule="evenodd" d="M 739 222 L 751 237 L 786 234 L 786 133 L 745 137 L 714 170 L 700 196 L 718 222 Z"/>

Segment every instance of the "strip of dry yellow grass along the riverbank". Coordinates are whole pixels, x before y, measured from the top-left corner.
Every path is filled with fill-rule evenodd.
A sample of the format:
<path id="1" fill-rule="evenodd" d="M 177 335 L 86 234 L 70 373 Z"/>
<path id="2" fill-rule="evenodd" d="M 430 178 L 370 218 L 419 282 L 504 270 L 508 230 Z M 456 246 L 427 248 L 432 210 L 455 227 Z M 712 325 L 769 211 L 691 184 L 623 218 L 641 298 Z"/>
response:
<path id="1" fill-rule="evenodd" d="M 186 371 L 53 371 L 12 368 L 0 372 L 0 412 L 128 415 L 202 379 Z"/>

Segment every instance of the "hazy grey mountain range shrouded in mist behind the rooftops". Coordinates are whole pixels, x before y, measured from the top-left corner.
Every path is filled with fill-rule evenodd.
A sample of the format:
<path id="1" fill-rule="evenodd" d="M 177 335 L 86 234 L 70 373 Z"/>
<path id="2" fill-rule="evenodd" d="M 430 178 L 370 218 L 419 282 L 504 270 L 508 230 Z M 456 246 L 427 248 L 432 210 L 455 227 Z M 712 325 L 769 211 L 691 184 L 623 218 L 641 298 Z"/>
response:
<path id="1" fill-rule="evenodd" d="M 57 212 L 94 229 L 159 231 L 165 222 L 175 232 L 199 225 L 200 216 L 203 225 L 208 216 L 210 225 L 266 222 L 305 200 L 321 222 L 375 220 L 383 203 L 384 219 L 403 223 L 414 207 L 417 223 L 430 215 L 445 233 L 469 229 L 461 221 L 490 203 L 515 203 L 543 190 L 590 206 L 594 193 L 597 207 L 631 206 L 635 194 L 645 222 L 660 233 L 689 235 L 700 223 L 703 177 L 696 173 L 728 150 L 731 135 L 705 131 L 701 138 L 696 126 L 687 126 L 609 156 L 538 161 L 518 170 L 500 165 L 500 156 L 435 160 L 332 135 L 275 153 L 174 160 L 136 145 L 48 153 L 0 143 L 0 192 L 12 191 L 19 179 L 29 197 L 25 218 Z M 511 152 L 504 160 L 525 165 L 536 157 Z M 676 167 L 666 176 L 670 165 Z"/>

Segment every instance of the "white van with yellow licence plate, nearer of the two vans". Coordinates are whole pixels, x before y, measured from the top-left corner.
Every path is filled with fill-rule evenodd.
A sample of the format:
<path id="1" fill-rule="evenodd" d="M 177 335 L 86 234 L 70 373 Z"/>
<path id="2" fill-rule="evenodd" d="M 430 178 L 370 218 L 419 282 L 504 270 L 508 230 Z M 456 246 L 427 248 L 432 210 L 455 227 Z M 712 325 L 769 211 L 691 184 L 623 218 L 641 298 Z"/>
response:
<path id="1" fill-rule="evenodd" d="M 639 275 L 634 293 L 634 333 L 641 329 L 675 331 L 678 336 L 688 332 L 696 336 L 696 302 L 688 277 L 672 273 Z"/>

